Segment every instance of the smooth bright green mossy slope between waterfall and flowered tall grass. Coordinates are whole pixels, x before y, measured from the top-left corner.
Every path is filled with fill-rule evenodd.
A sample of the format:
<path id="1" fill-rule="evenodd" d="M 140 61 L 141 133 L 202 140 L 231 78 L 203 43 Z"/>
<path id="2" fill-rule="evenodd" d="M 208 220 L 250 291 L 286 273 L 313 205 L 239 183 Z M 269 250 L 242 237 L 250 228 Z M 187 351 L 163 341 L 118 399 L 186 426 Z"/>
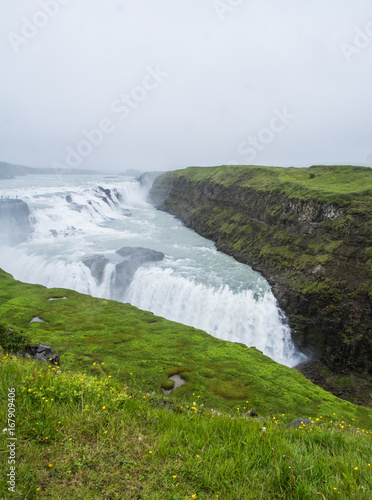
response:
<path id="1" fill-rule="evenodd" d="M 249 401 L 259 415 L 285 413 L 357 418 L 372 427 L 372 412 L 335 398 L 298 371 L 275 363 L 255 348 L 226 342 L 195 328 L 167 321 L 119 302 L 71 290 L 18 282 L 0 272 L 2 320 L 23 329 L 33 342 L 50 343 L 64 369 L 94 373 L 95 365 L 120 380 L 129 393 L 161 395 L 168 376 L 187 383 L 170 396 L 184 401 L 198 394 L 204 404 L 235 411 Z M 48 301 L 48 298 L 66 300 Z M 46 323 L 32 323 L 39 316 Z M 102 365 L 103 363 L 103 365 Z M 243 406 L 246 406 L 244 404 Z"/>

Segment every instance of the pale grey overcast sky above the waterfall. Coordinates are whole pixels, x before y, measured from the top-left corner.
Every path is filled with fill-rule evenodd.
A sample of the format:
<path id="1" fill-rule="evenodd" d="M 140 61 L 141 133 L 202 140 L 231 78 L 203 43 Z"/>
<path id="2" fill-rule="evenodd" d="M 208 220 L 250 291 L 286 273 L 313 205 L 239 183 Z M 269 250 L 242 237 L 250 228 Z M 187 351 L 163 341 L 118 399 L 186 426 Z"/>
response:
<path id="1" fill-rule="evenodd" d="M 0 161 L 372 166 L 368 0 L 1 0 Z"/>

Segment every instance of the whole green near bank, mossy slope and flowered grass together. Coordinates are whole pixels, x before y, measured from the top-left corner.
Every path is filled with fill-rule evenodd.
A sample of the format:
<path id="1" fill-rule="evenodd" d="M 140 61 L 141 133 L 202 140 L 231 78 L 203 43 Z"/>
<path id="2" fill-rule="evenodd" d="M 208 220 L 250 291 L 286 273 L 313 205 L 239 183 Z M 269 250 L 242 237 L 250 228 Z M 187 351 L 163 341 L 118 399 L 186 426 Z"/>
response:
<path id="1" fill-rule="evenodd" d="M 60 367 L 1 357 L 2 401 L 16 391 L 11 498 L 371 497 L 372 411 L 256 349 L 4 272 L 0 315 L 61 354 Z M 35 316 L 46 323 L 30 324 Z M 186 384 L 165 396 L 175 373 Z M 298 417 L 312 423 L 285 427 Z M 2 472 L 1 498 L 6 486 Z"/>

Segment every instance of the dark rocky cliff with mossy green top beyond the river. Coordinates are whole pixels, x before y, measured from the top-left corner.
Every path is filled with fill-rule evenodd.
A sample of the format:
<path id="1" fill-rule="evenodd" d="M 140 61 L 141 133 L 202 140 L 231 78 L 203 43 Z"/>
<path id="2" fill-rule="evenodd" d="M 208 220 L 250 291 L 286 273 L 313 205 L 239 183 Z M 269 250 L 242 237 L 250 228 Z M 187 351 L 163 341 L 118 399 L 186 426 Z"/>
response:
<path id="1" fill-rule="evenodd" d="M 333 373 L 367 377 L 365 390 L 358 387 L 364 396 L 348 395 L 336 382 L 327 388 L 368 404 L 372 170 L 190 167 L 160 175 L 150 197 L 219 250 L 260 271 L 301 351 Z"/>

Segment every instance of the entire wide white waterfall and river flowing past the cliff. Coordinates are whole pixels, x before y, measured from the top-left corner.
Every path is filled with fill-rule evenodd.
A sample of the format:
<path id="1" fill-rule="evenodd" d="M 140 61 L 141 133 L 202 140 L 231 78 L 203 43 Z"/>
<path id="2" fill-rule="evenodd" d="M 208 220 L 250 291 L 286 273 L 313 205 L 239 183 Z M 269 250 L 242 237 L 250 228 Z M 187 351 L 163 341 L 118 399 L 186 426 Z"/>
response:
<path id="1" fill-rule="evenodd" d="M 16 279 L 129 302 L 288 366 L 304 360 L 262 276 L 155 210 L 138 181 L 26 176 L 0 191 L 31 212 L 28 239 L 0 246 L 0 267 Z"/>

